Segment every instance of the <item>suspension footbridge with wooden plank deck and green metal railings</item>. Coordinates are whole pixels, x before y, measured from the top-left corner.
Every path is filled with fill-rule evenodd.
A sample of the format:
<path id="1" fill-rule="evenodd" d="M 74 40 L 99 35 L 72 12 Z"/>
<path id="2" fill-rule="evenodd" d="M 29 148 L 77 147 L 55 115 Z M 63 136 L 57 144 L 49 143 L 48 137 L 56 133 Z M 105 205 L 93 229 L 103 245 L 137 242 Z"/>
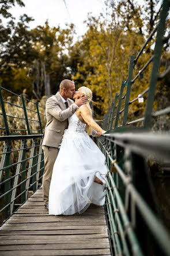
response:
<path id="1" fill-rule="evenodd" d="M 169 166 L 169 133 L 151 129 L 154 118 L 166 118 L 170 112 L 169 106 L 153 109 L 157 84 L 170 72 L 167 67 L 159 74 L 161 54 L 170 38 L 165 30 L 169 6 L 164 0 L 156 28 L 137 56 L 130 56 L 127 79 L 104 116 L 107 133 L 97 139 L 108 169 L 104 207 L 91 204 L 83 214 L 48 215 L 41 188 L 45 109 L 24 94 L 0 87 L 0 255 L 170 255 L 169 233 L 157 209 L 148 161 Z M 134 77 L 138 59 L 147 54 L 154 36 L 153 56 Z M 131 90 L 149 65 L 149 87 L 131 100 Z M 145 112 L 129 120 L 129 106 L 137 101 L 146 102 Z"/>

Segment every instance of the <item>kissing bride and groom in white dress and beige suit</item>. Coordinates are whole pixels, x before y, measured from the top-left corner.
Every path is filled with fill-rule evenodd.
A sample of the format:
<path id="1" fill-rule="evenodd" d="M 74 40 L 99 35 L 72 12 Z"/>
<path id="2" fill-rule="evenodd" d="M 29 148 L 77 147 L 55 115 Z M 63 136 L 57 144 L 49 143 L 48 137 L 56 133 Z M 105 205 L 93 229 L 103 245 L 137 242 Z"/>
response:
<path id="1" fill-rule="evenodd" d="M 90 138 L 105 131 L 92 118 L 91 100 L 88 87 L 75 92 L 68 79 L 47 99 L 42 145 L 43 200 L 49 214 L 83 213 L 91 202 L 105 202 L 105 156 Z"/>

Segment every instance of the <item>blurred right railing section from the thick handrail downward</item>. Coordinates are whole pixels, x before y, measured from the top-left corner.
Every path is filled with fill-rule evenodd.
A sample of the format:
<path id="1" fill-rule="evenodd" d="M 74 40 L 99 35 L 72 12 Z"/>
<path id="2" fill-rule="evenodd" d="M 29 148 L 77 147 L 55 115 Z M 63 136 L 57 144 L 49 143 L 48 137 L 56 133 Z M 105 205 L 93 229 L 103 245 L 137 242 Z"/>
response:
<path id="1" fill-rule="evenodd" d="M 135 130 L 131 132 L 127 130 L 122 133 L 118 132 L 118 130 L 121 131 L 122 127 L 117 129 L 115 133 L 105 133 L 103 138 L 99 139 L 99 147 L 105 154 L 108 169 L 106 214 L 109 215 L 112 229 L 114 230 L 114 226 L 118 227 L 116 231 L 111 232 L 112 236 L 114 236 L 114 243 L 123 244 L 121 250 L 126 251 L 124 255 L 131 255 L 131 250 L 134 255 L 146 255 L 146 253 L 143 253 L 141 240 L 139 239 L 140 232 L 143 232 L 142 225 L 145 223 L 148 232 L 152 234 L 156 243 L 159 244 L 158 250 L 163 251 L 165 255 L 169 255 L 169 234 L 158 217 L 156 209 L 152 206 L 154 201 L 152 189 L 148 186 L 147 182 L 146 184 L 143 183 L 143 180 L 147 181 L 149 178 L 145 177 L 148 176 L 148 174 L 144 170 L 146 168 L 145 158 L 148 157 L 148 155 L 152 156 L 152 158 L 156 158 L 157 161 L 160 159 L 165 160 L 165 162 L 169 160 L 169 133 L 153 134 L 151 132 L 137 132 Z M 132 161 L 139 162 L 141 166 L 134 166 Z M 115 170 L 113 170 L 113 167 Z M 134 173 L 139 177 L 141 177 L 142 173 L 143 180 L 135 180 L 134 183 Z M 120 180 L 123 183 L 120 182 Z M 145 189 L 147 188 L 148 198 L 152 200 L 152 203 L 149 199 L 147 200 L 141 195 L 141 183 L 142 186 L 145 186 Z M 123 184 L 123 186 L 121 184 Z M 131 212 L 131 217 L 129 217 L 129 212 Z M 113 215 L 113 213 L 115 213 L 117 217 Z M 141 218 L 138 220 L 136 217 L 138 213 L 142 216 L 143 224 L 141 224 L 141 226 Z M 138 235 L 136 234 L 137 226 Z M 121 236 L 122 232 L 127 232 L 126 238 Z M 120 233 L 119 242 L 116 242 L 116 233 Z M 133 235 L 133 239 L 129 237 L 130 235 Z M 127 242 L 127 240 L 129 242 Z M 150 243 L 154 243 L 152 239 Z M 124 246 L 126 246 L 126 248 Z"/>

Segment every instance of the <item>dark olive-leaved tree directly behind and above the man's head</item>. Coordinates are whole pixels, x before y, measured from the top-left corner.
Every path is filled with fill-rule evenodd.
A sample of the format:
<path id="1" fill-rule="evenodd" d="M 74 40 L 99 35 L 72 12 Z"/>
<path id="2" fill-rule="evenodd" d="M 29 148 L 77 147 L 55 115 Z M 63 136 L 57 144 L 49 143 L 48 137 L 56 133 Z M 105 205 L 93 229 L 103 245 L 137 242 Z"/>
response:
<path id="1" fill-rule="evenodd" d="M 38 26 L 31 32 L 33 47 L 39 52 L 39 58 L 34 61 L 29 73 L 33 87 L 40 93 L 36 93 L 39 97 L 44 95 L 44 90 L 47 94 L 47 87 L 55 94 L 62 79 L 71 79 L 68 54 L 73 43 L 74 25 L 70 24 L 62 30 L 59 26 L 50 28 L 46 21 L 44 26 Z M 50 96 L 49 91 L 47 96 Z"/>

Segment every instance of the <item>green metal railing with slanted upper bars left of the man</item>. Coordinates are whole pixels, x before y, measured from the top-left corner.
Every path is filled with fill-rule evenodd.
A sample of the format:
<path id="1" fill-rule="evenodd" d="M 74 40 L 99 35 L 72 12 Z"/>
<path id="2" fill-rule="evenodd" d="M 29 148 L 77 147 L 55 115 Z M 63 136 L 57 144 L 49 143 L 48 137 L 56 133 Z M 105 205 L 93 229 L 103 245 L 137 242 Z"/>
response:
<path id="1" fill-rule="evenodd" d="M 44 159 L 41 139 L 46 115 L 42 105 L 3 87 L 0 87 L 0 103 L 2 223 L 42 183 Z"/>

